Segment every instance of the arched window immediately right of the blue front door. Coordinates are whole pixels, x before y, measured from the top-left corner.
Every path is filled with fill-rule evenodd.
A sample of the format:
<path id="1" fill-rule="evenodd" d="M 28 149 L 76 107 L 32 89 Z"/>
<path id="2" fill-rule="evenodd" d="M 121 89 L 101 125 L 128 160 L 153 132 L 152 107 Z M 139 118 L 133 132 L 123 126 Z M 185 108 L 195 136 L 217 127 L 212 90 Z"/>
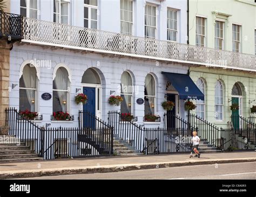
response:
<path id="1" fill-rule="evenodd" d="M 132 77 L 128 72 L 121 76 L 121 113 L 132 113 Z"/>

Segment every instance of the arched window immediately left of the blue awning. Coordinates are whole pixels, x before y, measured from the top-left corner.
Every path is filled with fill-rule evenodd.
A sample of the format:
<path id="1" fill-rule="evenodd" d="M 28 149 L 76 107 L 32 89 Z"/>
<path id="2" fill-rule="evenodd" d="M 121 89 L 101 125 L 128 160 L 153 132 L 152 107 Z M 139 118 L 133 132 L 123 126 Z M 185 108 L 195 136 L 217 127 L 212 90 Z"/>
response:
<path id="1" fill-rule="evenodd" d="M 147 74 L 145 79 L 145 90 L 144 90 L 144 112 L 147 114 L 155 113 L 155 104 L 156 104 L 156 81 L 154 80 L 151 74 Z"/>

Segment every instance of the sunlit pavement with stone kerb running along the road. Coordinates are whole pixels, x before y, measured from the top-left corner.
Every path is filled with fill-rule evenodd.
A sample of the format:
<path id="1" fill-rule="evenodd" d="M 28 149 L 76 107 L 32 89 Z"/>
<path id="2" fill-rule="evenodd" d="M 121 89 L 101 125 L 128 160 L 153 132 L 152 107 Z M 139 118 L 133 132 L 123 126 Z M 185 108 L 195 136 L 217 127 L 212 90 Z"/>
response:
<path id="1" fill-rule="evenodd" d="M 68 174 L 89 174 L 146 170 L 165 167 L 244 163 L 256 161 L 256 152 L 204 153 L 200 158 L 189 154 L 161 154 L 133 157 L 98 157 L 80 159 L 54 159 L 1 163 L 0 179 L 45 177 Z"/>

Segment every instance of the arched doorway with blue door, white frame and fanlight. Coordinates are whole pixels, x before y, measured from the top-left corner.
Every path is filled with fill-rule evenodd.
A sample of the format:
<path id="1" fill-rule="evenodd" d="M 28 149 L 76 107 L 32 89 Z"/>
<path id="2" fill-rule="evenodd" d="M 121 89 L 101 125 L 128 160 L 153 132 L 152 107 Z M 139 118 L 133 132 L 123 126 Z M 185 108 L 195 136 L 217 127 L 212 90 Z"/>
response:
<path id="1" fill-rule="evenodd" d="M 93 68 L 88 68 L 82 77 L 83 93 L 87 96 L 87 102 L 83 104 L 83 111 L 89 112 L 92 116 L 101 117 L 101 95 L 102 81 L 97 71 Z M 94 123 L 90 119 L 85 118 L 84 127 L 94 127 Z"/>

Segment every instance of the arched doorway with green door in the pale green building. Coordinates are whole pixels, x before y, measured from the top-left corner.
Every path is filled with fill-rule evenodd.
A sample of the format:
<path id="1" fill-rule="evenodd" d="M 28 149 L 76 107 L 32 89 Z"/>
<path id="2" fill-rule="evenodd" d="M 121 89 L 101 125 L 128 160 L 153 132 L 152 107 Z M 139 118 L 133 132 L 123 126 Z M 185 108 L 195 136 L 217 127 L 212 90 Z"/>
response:
<path id="1" fill-rule="evenodd" d="M 239 109 L 232 110 L 232 123 L 233 123 L 234 129 L 239 129 L 241 126 L 239 123 L 239 116 L 242 115 L 242 89 L 239 83 L 234 84 L 231 95 L 232 95 L 232 104 L 239 105 Z"/>

